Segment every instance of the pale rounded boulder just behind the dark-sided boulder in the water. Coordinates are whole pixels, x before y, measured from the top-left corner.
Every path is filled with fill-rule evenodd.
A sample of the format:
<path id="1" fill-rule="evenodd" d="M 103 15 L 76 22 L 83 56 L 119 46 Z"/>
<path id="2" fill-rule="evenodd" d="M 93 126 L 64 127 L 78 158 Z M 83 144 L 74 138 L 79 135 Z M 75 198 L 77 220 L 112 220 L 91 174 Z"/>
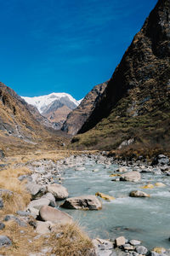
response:
<path id="1" fill-rule="evenodd" d="M 48 185 L 48 192 L 54 195 L 55 200 L 63 200 L 69 196 L 67 189 L 56 183 Z"/>

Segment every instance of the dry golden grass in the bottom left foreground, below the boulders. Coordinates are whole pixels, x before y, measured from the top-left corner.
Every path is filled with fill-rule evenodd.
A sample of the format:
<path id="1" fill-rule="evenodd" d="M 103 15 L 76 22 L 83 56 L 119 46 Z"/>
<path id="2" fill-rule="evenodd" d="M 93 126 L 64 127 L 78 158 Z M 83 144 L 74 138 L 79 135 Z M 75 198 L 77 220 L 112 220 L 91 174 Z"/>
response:
<path id="1" fill-rule="evenodd" d="M 61 234 L 60 238 L 56 238 L 56 234 Z M 40 253 L 44 247 L 52 249 L 46 253 L 47 256 L 51 253 L 58 256 L 88 256 L 93 248 L 92 241 L 77 224 L 58 227 L 56 232 L 48 236 L 37 236 L 31 226 L 20 227 L 14 221 L 8 221 L 5 230 L 0 230 L 0 235 L 8 236 L 13 242 L 11 247 L 0 250 L 1 254 L 8 256 L 28 256 L 29 253 Z"/>

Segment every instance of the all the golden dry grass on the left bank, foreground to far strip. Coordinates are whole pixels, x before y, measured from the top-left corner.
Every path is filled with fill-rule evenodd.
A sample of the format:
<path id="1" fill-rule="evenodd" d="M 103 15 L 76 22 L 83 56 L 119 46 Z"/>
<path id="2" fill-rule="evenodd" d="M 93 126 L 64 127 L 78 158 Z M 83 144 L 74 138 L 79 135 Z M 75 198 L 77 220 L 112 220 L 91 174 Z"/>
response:
<path id="1" fill-rule="evenodd" d="M 26 167 L 14 167 L 16 163 L 26 163 L 34 160 L 61 160 L 69 157 L 71 154 L 84 154 L 80 151 L 69 150 L 37 150 L 36 152 L 15 155 L 5 158 L 2 163 L 8 164 L 6 170 L 0 172 L 0 189 L 8 189 L 14 192 L 13 195 L 3 193 L 4 207 L 0 211 L 0 221 L 3 221 L 7 213 L 15 213 L 23 210 L 31 200 L 25 189 L 25 183 L 20 182 L 20 175 L 28 174 L 31 171 Z M 95 151 L 88 151 L 95 153 Z M 56 234 L 62 233 L 60 238 L 56 238 Z M 50 255 L 54 253 L 59 256 L 78 256 L 89 255 L 93 244 L 88 236 L 77 226 L 77 224 L 65 225 L 58 227 L 49 236 L 37 236 L 35 230 L 28 224 L 27 227 L 20 227 L 14 221 L 5 222 L 5 229 L 0 230 L 0 235 L 8 236 L 12 241 L 11 247 L 0 248 L 0 254 L 6 256 L 28 256 L 29 253 L 41 253 L 42 248 L 52 247 L 52 252 L 46 253 Z"/>

